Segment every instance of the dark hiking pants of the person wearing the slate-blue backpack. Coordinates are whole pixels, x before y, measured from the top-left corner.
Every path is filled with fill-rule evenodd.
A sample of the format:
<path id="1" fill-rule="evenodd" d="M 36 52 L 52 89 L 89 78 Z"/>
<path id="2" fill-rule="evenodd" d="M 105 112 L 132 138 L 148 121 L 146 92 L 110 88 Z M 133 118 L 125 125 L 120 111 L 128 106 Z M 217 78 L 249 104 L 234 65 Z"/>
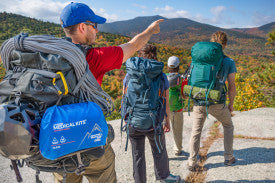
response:
<path id="1" fill-rule="evenodd" d="M 161 153 L 159 153 L 154 139 L 154 131 L 140 132 L 129 126 L 129 138 L 132 144 L 133 176 L 135 183 L 146 182 L 145 137 L 149 139 L 151 145 L 156 179 L 165 179 L 170 174 L 164 133 L 162 132 L 160 136 L 160 142 L 163 149 L 161 150 Z"/>

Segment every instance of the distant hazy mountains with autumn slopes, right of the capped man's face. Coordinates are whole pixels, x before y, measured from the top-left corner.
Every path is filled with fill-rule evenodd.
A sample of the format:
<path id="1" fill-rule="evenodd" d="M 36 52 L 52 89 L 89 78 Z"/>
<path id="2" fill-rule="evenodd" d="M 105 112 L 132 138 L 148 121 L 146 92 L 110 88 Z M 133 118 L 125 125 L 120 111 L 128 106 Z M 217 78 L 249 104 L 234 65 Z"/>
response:
<path id="1" fill-rule="evenodd" d="M 259 27 L 258 32 L 261 34 L 252 34 L 253 29 L 223 29 L 187 18 L 167 19 L 161 16 L 148 16 L 103 24 L 99 26 L 99 30 L 132 37 L 144 30 L 152 21 L 161 18 L 165 20 L 160 24 L 161 32 L 151 39 L 156 43 L 190 49 L 198 41 L 209 41 L 213 32 L 221 30 L 229 36 L 226 50 L 228 54 L 271 55 L 271 47 L 265 45 L 266 36 L 263 35 L 274 28 L 274 22 Z"/>

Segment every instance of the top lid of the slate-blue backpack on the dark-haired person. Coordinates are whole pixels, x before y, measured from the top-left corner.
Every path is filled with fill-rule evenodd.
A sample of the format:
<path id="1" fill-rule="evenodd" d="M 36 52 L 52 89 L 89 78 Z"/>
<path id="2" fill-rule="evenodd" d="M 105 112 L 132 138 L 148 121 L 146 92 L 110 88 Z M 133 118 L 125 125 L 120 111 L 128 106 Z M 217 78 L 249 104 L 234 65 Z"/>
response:
<path id="1" fill-rule="evenodd" d="M 140 78 L 146 74 L 148 78 L 155 78 L 162 73 L 164 64 L 154 59 L 132 57 L 126 61 L 126 71 L 131 77 Z"/>

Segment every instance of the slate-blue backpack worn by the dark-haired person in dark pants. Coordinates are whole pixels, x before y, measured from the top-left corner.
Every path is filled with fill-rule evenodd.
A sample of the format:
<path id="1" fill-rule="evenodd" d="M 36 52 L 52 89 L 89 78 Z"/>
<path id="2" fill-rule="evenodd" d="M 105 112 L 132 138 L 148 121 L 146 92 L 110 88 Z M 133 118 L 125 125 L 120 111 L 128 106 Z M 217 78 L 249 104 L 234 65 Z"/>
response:
<path id="1" fill-rule="evenodd" d="M 128 145 L 129 125 L 135 130 L 155 132 L 160 138 L 162 121 L 166 115 L 164 97 L 164 80 L 162 69 L 164 64 L 153 59 L 132 57 L 126 61 L 125 92 L 121 105 L 121 130 L 127 131 L 126 148 Z M 123 121 L 126 125 L 123 126 Z"/>

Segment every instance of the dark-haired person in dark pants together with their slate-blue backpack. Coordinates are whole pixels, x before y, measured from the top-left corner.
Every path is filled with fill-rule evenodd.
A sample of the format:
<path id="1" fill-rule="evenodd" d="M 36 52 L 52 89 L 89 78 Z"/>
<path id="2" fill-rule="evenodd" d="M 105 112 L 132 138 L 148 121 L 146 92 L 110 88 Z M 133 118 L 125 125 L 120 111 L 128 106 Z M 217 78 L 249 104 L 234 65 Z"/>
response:
<path id="1" fill-rule="evenodd" d="M 134 63 L 134 67 L 137 66 L 133 69 L 133 73 L 130 68 L 132 63 Z M 180 180 L 180 176 L 170 174 L 169 170 L 164 135 L 165 132 L 170 131 L 169 83 L 162 69 L 163 63 L 157 61 L 157 48 L 151 44 L 146 44 L 140 49 L 138 57 L 133 57 L 126 62 L 127 75 L 123 80 L 123 93 L 128 98 L 124 100 L 123 97 L 122 113 L 129 112 L 125 112 L 126 115 L 122 118 L 126 118 L 128 135 L 132 144 L 133 176 L 136 183 L 146 182 L 146 137 L 151 145 L 156 179 L 161 182 L 178 182 Z M 153 72 L 157 73 L 155 77 L 152 76 Z M 133 97 L 134 100 L 132 100 Z M 161 101 L 155 100 L 156 98 Z M 162 109 L 157 110 L 161 106 L 151 108 L 163 101 L 166 101 L 162 104 L 165 105 L 162 106 L 163 111 Z M 155 109 L 156 113 L 153 112 Z M 158 118 L 162 115 L 164 123 L 162 123 L 163 119 Z M 148 125 L 151 119 L 153 119 L 153 124 Z"/>

